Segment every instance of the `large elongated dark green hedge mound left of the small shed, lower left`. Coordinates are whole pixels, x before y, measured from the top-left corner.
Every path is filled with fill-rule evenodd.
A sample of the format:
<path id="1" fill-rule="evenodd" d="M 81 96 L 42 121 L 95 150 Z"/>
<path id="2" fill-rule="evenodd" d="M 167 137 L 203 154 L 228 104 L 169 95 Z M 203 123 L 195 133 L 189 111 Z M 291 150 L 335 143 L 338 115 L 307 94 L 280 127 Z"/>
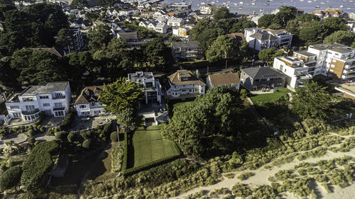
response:
<path id="1" fill-rule="evenodd" d="M 21 185 L 25 191 L 40 186 L 43 176 L 53 166 L 51 155 L 58 148 L 59 144 L 53 140 L 42 142 L 31 150 L 22 167 Z"/>

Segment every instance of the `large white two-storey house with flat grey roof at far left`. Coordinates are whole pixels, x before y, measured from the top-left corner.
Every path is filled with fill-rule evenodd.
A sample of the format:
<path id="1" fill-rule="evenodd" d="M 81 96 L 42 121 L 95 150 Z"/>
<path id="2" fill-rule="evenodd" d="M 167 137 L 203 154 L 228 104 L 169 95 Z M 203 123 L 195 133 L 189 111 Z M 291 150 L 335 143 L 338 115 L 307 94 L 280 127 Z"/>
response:
<path id="1" fill-rule="evenodd" d="M 5 122 L 11 118 L 21 118 L 34 122 L 39 118 L 41 111 L 45 115 L 64 117 L 70 106 L 72 93 L 67 81 L 47 82 L 43 86 L 28 86 L 21 93 L 16 93 L 6 101 L 9 115 Z"/>

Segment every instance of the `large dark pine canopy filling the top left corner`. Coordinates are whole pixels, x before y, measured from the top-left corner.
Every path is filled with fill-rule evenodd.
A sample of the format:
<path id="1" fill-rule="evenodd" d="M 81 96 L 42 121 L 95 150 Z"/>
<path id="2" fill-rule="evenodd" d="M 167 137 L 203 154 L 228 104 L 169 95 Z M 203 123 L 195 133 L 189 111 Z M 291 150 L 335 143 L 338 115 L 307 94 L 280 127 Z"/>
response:
<path id="1" fill-rule="evenodd" d="M 4 14 L 4 32 L 0 36 L 3 55 L 22 47 L 53 46 L 54 36 L 67 28 L 67 16 L 58 4 L 31 4 L 23 10 L 8 9 Z"/>

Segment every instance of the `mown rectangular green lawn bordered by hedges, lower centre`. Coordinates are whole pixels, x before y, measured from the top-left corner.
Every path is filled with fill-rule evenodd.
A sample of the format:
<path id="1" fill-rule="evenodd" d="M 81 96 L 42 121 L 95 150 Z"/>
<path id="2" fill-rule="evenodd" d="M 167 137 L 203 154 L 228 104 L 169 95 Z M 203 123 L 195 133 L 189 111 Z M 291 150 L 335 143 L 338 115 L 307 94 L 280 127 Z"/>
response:
<path id="1" fill-rule="evenodd" d="M 179 154 L 169 140 L 160 135 L 159 126 L 141 126 L 133 134 L 133 147 L 129 147 L 129 162 L 131 167 L 141 166 L 152 161 Z M 134 161 L 132 162 L 132 155 Z M 131 158 L 131 159 L 130 159 Z M 133 164 L 133 166 L 132 166 Z"/>

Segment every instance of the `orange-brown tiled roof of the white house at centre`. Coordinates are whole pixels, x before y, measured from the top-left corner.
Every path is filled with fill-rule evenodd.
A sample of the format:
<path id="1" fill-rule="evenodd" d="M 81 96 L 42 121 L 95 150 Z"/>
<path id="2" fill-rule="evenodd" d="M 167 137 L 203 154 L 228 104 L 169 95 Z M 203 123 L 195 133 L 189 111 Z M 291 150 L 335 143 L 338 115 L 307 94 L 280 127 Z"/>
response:
<path id="1" fill-rule="evenodd" d="M 187 76 L 188 79 L 180 79 L 180 76 Z M 174 85 L 184 85 L 184 84 L 200 84 L 202 86 L 205 86 L 203 81 L 201 81 L 199 78 L 197 78 L 197 75 L 193 74 L 189 70 L 178 70 L 177 72 L 170 74 L 168 76 L 168 79 L 171 84 Z"/>

